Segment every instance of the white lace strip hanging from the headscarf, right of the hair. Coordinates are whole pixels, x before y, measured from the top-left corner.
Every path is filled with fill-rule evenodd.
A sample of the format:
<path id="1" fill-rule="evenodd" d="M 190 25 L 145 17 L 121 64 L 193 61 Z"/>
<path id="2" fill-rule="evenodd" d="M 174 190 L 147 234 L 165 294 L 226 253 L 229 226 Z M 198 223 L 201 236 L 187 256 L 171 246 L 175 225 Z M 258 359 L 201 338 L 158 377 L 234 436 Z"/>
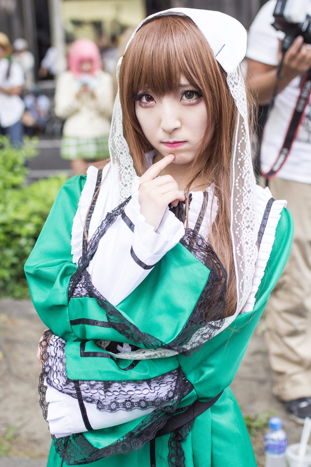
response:
<path id="1" fill-rule="evenodd" d="M 231 239 L 235 263 L 236 316 L 249 297 L 258 255 L 256 181 L 251 160 L 248 110 L 240 67 L 228 73 L 227 83 L 238 109 L 231 161 Z"/>

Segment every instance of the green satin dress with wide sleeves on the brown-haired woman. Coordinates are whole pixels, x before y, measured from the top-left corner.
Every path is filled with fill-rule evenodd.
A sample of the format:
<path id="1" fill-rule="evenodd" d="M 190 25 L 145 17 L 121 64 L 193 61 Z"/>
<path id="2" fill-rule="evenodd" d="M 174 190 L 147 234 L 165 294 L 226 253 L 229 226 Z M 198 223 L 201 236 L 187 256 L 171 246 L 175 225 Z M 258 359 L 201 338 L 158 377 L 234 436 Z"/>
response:
<path id="1" fill-rule="evenodd" d="M 82 258 L 77 268 L 72 262 L 71 227 L 84 183 L 85 177 L 80 176 L 64 184 L 26 263 L 35 308 L 53 333 L 67 341 L 70 381 L 141 382 L 177 372 L 176 394 L 169 405 L 136 420 L 53 439 L 48 467 L 255 467 L 249 435 L 229 385 L 287 261 L 293 232 L 290 213 L 281 212 L 253 311 L 238 315 L 220 333 L 221 318 L 216 313 L 203 332 L 206 328 L 195 322 L 193 312 L 213 280 L 213 268 L 181 243 L 117 307 L 90 291 L 90 284 L 88 294 L 75 295 L 76 284 L 87 281 L 83 274 L 94 254 L 90 247 L 84 263 Z M 122 206 L 116 215 L 120 212 Z M 190 345 L 193 335 L 200 336 L 198 345 Z M 127 342 L 137 354 L 150 350 L 153 358 L 118 358 L 98 347 L 97 340 Z M 163 350 L 165 356 L 161 356 Z M 184 432 L 156 438 L 151 455 L 150 440 L 167 418 L 221 391 L 217 402 L 185 426 Z"/>

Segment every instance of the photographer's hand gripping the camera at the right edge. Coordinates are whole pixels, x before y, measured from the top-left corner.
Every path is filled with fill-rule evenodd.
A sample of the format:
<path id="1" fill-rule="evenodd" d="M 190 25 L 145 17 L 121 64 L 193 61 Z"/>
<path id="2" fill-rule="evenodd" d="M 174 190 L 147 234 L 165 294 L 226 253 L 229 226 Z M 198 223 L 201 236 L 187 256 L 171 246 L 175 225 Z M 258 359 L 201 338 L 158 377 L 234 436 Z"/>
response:
<path id="1" fill-rule="evenodd" d="M 311 45 L 304 44 L 301 35 L 296 37 L 289 50 L 284 55 L 280 75 L 287 80 L 304 75 L 311 68 Z"/>

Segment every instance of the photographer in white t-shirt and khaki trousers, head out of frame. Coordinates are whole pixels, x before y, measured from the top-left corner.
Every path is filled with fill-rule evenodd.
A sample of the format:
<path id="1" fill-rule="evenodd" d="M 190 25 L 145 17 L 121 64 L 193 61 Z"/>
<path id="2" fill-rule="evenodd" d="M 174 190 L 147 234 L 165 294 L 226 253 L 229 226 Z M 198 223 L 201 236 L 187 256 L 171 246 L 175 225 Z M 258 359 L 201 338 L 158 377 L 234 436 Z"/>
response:
<path id="1" fill-rule="evenodd" d="M 261 170 L 274 197 L 285 197 L 295 232 L 290 259 L 268 304 L 267 342 L 274 394 L 297 422 L 311 417 L 311 106 L 310 93 L 293 141 L 285 146 L 300 89 L 311 68 L 311 45 L 296 37 L 281 60 L 284 33 L 276 31 L 268 1 L 249 29 L 248 80 L 257 101 L 276 99 L 264 126 Z M 309 12 L 311 14 L 311 2 Z M 285 149 L 285 152 L 284 152 Z M 283 152 L 282 152 L 283 151 Z"/>

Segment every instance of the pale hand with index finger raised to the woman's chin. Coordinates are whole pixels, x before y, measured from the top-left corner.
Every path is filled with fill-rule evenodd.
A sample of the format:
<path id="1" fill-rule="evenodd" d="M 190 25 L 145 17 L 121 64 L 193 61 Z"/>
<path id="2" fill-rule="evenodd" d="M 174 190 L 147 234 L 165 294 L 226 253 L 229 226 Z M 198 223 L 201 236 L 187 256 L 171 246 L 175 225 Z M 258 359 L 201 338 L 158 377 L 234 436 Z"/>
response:
<path id="1" fill-rule="evenodd" d="M 174 158 L 174 154 L 163 157 L 139 178 L 140 212 L 154 231 L 159 227 L 167 205 L 171 203 L 176 207 L 179 201 L 185 200 L 184 194 L 179 190 L 178 184 L 171 175 L 158 177 L 160 172 L 173 162 Z"/>

